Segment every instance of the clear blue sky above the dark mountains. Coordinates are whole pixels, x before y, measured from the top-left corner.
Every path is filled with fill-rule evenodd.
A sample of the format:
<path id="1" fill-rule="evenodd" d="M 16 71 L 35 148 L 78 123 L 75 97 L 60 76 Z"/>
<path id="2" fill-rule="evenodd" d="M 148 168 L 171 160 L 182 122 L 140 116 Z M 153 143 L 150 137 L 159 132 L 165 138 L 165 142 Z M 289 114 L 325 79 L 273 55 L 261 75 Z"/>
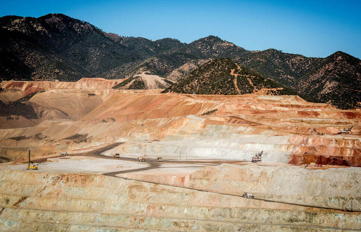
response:
<path id="1" fill-rule="evenodd" d="M 248 50 L 361 58 L 361 1 L 0 0 L 0 16 L 63 13 L 124 36 L 185 43 L 216 35 Z"/>

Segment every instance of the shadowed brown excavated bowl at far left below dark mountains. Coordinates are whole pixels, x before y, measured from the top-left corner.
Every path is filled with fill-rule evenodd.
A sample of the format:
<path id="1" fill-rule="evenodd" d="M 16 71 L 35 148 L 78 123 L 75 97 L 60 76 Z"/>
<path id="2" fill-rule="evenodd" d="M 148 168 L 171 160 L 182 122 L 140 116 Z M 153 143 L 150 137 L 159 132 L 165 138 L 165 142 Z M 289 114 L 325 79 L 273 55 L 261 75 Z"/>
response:
<path id="1" fill-rule="evenodd" d="M 22 115 L 32 122 L 10 123 L 14 127 L 38 124 L 46 119 L 79 119 L 98 106 L 122 80 L 82 78 L 78 82 L 4 81 L 0 83 L 0 117 Z M 6 121 L 4 122 L 6 123 Z M 10 125 L 9 124 L 9 125 Z M 8 126 L 0 126 L 9 128 Z"/>

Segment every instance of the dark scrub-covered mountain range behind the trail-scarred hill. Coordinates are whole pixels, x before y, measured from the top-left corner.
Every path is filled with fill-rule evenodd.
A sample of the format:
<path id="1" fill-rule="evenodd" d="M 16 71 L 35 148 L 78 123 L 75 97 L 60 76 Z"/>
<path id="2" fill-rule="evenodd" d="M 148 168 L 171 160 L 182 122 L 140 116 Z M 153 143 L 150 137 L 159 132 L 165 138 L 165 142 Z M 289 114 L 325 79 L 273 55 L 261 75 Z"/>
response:
<path id="1" fill-rule="evenodd" d="M 217 63 L 210 61 L 228 58 L 242 65 L 242 70 L 256 72 L 256 76 L 314 101 L 342 109 L 361 106 L 361 60 L 340 51 L 326 58 L 276 49 L 248 51 L 216 36 L 189 44 L 171 38 L 152 41 L 107 33 L 64 14 L 1 17 L 0 32 L 0 78 L 3 80 L 134 79 L 135 75 L 147 72 L 182 83 L 200 66 L 208 65 L 201 69 L 207 70 L 210 64 Z M 226 94 L 216 89 L 210 93 Z M 234 90 L 229 93 L 242 94 Z"/>

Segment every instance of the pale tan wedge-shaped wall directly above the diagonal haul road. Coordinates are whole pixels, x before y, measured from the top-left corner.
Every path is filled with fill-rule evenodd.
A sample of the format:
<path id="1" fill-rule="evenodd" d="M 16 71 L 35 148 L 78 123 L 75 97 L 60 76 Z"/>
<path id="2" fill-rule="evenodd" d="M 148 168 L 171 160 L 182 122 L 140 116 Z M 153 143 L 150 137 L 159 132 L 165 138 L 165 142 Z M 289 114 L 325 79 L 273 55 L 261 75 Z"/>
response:
<path id="1" fill-rule="evenodd" d="M 361 168 L 307 170 L 297 166 L 222 164 L 188 176 L 121 174 L 130 179 L 190 187 L 241 196 L 337 209 L 361 210 Z"/>

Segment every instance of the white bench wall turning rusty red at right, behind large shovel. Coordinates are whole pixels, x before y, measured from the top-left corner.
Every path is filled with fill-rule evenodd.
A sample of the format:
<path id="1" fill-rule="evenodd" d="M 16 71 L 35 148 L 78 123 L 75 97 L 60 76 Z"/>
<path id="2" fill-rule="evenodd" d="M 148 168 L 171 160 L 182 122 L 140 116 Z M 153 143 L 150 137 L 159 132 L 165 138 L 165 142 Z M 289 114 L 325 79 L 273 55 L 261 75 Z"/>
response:
<path id="1" fill-rule="evenodd" d="M 127 143 L 114 152 L 123 156 L 133 154 L 162 154 L 174 156 L 186 154 L 194 158 L 252 159 L 256 153 L 264 151 L 263 162 L 361 166 L 361 145 L 359 140 L 318 138 L 305 136 L 270 136 L 227 134 L 229 139 L 208 139 L 181 135 L 167 135 L 160 142 Z M 171 138 L 169 138 L 171 137 Z M 166 141 L 168 140 L 168 141 Z M 171 141 L 173 140 L 173 141 Z M 175 140 L 175 141 L 174 141 Z M 310 157 L 310 158 L 308 158 Z M 337 157 L 337 158 L 335 158 Z"/>

